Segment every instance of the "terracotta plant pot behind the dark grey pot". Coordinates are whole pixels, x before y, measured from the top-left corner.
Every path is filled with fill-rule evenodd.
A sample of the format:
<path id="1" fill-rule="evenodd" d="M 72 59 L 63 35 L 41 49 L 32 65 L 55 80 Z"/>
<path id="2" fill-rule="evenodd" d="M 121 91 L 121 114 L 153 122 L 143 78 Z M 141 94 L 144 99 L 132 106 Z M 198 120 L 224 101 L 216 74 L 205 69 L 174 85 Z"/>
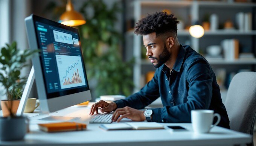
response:
<path id="1" fill-rule="evenodd" d="M 16 114 L 19 104 L 20 104 L 20 100 L 1 100 L 1 107 L 2 107 L 2 111 L 3 111 L 3 117 L 8 117 L 10 115 L 10 112 L 6 106 L 6 104 L 8 105 L 8 107 L 11 106 L 11 102 L 12 102 L 12 113 Z"/>

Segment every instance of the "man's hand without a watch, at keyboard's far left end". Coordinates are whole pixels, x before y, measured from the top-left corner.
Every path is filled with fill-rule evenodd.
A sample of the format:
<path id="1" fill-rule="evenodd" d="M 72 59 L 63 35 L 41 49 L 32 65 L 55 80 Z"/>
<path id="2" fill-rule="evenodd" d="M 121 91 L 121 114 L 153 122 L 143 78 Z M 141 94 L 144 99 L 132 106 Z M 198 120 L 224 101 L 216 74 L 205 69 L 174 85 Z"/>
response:
<path id="1" fill-rule="evenodd" d="M 99 102 L 91 105 L 90 115 L 93 115 L 94 112 L 96 112 L 96 114 L 98 114 L 99 107 L 101 108 L 102 113 L 104 113 L 104 112 L 110 113 L 111 111 L 114 111 L 117 109 L 117 104 L 114 102 L 107 103 L 103 100 L 100 100 Z"/>

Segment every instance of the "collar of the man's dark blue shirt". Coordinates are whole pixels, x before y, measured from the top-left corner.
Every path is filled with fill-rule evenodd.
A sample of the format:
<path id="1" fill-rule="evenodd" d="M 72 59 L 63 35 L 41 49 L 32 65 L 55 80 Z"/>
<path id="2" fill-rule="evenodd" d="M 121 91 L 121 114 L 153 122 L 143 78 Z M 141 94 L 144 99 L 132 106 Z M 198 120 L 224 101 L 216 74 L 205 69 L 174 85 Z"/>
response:
<path id="1" fill-rule="evenodd" d="M 175 71 L 180 72 L 180 68 L 181 68 L 181 65 L 183 64 L 186 52 L 187 52 L 186 49 L 182 45 L 180 45 L 180 50 L 177 55 L 175 64 L 173 66 L 173 69 Z M 170 69 L 165 64 L 163 64 L 162 70 L 165 72 L 165 70 L 170 70 Z"/>

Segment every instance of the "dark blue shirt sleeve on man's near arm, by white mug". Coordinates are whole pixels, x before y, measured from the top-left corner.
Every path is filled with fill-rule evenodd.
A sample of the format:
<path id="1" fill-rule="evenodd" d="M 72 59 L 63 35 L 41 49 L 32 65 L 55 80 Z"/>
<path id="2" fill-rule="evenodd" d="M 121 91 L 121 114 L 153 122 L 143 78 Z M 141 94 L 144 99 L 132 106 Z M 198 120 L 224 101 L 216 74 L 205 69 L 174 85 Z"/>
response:
<path id="1" fill-rule="evenodd" d="M 209 64 L 203 59 L 197 59 L 186 69 L 188 82 L 187 102 L 176 106 L 165 106 L 152 109 L 153 122 L 191 122 L 190 111 L 193 109 L 208 109 L 212 99 L 212 73 Z"/>

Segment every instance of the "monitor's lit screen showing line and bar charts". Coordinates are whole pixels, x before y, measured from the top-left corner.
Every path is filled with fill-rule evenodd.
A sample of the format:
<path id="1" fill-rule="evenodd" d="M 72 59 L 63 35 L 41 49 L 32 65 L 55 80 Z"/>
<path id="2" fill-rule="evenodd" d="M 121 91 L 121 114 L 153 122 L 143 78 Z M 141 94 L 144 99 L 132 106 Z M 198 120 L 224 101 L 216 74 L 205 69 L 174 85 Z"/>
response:
<path id="1" fill-rule="evenodd" d="M 47 98 L 89 90 L 77 29 L 34 23 Z"/>

